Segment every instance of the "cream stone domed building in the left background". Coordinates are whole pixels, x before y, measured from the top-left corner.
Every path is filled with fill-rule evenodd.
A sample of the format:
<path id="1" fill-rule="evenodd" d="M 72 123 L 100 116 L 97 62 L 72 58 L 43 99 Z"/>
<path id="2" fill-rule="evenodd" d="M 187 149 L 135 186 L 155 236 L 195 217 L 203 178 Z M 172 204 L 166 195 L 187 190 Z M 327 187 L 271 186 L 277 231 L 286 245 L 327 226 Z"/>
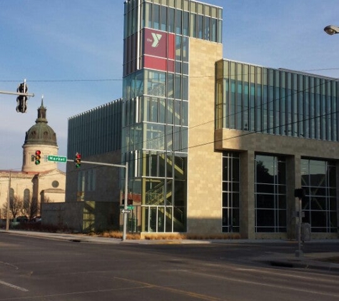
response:
<path id="1" fill-rule="evenodd" d="M 40 215 L 41 203 L 65 200 L 66 173 L 58 169 L 49 155 L 58 155 L 56 133 L 46 119 L 44 99 L 34 126 L 26 132 L 21 171 L 0 170 L 0 218 L 6 218 L 8 200 L 19 205 L 10 208 L 10 217 Z M 11 203 L 11 202 L 10 202 Z M 13 202 L 12 202 L 13 203 Z"/>

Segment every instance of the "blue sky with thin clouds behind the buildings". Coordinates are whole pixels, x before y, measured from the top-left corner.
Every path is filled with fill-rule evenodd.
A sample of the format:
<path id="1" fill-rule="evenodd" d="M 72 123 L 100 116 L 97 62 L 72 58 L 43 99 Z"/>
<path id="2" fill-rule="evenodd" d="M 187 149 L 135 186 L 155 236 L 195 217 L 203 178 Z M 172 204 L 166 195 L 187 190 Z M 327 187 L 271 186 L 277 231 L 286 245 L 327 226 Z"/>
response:
<path id="1" fill-rule="evenodd" d="M 223 58 L 339 78 L 338 0 L 208 0 L 223 7 Z M 68 118 L 121 97 L 123 0 L 0 0 L 0 90 L 29 86 L 27 113 L 0 94 L 0 170 L 21 170 L 44 95 L 59 155 Z M 59 165 L 64 170 L 64 165 Z"/>

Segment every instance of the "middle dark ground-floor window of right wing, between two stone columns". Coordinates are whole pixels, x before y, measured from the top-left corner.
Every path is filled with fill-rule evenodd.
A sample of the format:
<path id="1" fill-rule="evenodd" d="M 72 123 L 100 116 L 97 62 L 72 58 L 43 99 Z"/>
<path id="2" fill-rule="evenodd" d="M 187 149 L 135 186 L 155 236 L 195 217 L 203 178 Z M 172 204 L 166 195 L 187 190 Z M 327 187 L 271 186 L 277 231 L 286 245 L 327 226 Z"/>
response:
<path id="1" fill-rule="evenodd" d="M 255 155 L 255 232 L 286 232 L 285 159 Z"/>

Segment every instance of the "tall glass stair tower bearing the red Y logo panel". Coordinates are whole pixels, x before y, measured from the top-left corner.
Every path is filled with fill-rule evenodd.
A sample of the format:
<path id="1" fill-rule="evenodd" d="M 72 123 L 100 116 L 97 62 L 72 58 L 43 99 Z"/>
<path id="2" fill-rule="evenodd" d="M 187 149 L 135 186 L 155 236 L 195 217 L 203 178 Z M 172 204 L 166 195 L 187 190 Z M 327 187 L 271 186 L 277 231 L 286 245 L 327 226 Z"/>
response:
<path id="1" fill-rule="evenodd" d="M 221 42 L 221 15 L 196 1 L 125 2 L 122 155 L 134 230 L 186 231 L 189 37 Z"/>

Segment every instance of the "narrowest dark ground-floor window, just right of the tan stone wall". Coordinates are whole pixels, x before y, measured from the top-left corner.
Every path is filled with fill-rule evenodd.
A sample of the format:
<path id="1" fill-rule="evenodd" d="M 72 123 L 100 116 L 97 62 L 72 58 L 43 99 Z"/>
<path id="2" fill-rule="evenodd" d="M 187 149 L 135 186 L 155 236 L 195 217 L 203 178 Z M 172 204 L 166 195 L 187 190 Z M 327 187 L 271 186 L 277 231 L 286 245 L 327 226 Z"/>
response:
<path id="1" fill-rule="evenodd" d="M 223 233 L 239 232 L 239 154 L 223 153 Z"/>

